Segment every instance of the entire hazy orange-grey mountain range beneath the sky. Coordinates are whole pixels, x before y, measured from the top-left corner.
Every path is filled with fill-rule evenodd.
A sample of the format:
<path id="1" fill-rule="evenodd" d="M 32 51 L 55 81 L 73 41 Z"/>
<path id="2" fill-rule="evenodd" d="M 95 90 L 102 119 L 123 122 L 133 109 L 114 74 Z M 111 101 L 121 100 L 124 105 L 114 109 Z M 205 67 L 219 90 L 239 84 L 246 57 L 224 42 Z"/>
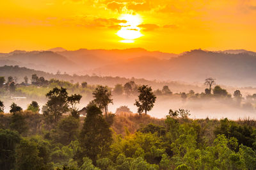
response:
<path id="1" fill-rule="evenodd" d="M 191 50 L 181 54 L 141 48 L 113 50 L 15 50 L 0 54 L 0 66 L 19 65 L 56 73 L 136 77 L 159 81 L 204 82 L 256 86 L 256 52 L 248 50 Z"/>

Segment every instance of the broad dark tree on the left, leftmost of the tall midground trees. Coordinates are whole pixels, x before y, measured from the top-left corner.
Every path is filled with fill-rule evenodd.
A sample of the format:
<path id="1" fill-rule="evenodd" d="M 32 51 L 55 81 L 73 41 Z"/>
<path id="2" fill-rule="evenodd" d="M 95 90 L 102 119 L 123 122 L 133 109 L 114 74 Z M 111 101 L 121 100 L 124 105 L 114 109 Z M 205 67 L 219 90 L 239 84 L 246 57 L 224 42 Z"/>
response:
<path id="1" fill-rule="evenodd" d="M 57 123 L 61 115 L 68 111 L 68 93 L 65 88 L 53 88 L 46 94 L 48 98 L 44 107 L 44 116 Z"/>

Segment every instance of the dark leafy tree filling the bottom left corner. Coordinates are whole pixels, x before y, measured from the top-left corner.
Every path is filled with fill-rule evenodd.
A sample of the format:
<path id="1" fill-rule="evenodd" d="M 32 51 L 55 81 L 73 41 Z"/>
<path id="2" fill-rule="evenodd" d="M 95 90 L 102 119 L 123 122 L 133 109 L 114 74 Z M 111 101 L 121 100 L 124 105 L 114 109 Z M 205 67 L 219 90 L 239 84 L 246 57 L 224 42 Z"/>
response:
<path id="1" fill-rule="evenodd" d="M 15 148 L 20 142 L 18 132 L 0 129 L 0 169 L 14 169 Z"/>

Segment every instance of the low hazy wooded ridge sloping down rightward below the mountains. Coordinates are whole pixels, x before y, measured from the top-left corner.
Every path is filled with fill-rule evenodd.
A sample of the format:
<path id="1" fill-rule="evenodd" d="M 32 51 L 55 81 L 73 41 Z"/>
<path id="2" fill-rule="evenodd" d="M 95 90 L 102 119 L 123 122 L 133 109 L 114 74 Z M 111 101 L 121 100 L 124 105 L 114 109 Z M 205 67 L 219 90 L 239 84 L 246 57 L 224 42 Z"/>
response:
<path id="1" fill-rule="evenodd" d="M 127 79 L 125 77 L 100 77 L 97 75 L 68 75 L 67 73 L 47 73 L 38 70 L 29 69 L 20 66 L 0 66 L 0 77 L 3 76 L 7 80 L 9 76 L 17 77 L 17 82 L 23 82 L 24 77 L 29 77 L 29 81 L 33 74 L 38 75 L 38 77 L 44 77 L 45 79 L 59 79 L 63 81 L 70 82 L 87 82 L 88 84 L 101 84 L 105 86 L 113 87 L 115 84 L 125 84 L 129 81 L 134 81 L 136 84 L 148 84 L 153 88 L 163 88 L 163 86 L 169 86 L 173 91 L 189 91 L 189 89 L 194 89 L 195 91 L 204 90 L 204 86 L 196 86 L 191 84 L 185 84 L 182 82 L 159 82 L 159 81 L 148 81 L 146 79 Z"/>

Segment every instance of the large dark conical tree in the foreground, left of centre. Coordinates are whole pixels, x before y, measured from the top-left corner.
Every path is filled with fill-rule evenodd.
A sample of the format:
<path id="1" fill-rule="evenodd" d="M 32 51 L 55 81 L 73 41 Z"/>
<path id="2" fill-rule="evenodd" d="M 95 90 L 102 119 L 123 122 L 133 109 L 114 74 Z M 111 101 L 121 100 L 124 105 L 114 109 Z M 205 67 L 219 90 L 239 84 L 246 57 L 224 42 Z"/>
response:
<path id="1" fill-rule="evenodd" d="M 102 116 L 102 111 L 96 105 L 87 107 L 87 115 L 81 130 L 79 142 L 81 144 L 80 160 L 85 156 L 96 164 L 97 155 L 105 155 L 112 141 L 109 124 Z"/>

